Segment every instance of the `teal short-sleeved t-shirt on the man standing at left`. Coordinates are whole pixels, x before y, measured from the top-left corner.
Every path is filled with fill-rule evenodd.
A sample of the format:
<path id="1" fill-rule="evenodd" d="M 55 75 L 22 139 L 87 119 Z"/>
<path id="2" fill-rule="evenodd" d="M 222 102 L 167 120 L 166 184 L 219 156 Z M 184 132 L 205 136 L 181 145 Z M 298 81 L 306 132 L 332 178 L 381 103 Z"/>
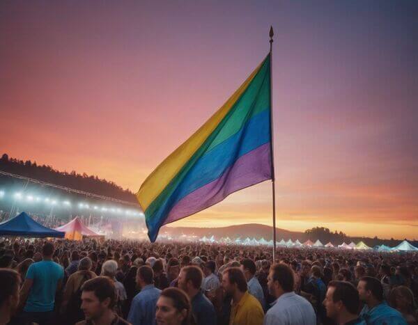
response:
<path id="1" fill-rule="evenodd" d="M 54 310 L 56 285 L 64 277 L 64 269 L 52 261 L 31 264 L 26 278 L 33 280 L 25 312 L 49 312 Z"/>

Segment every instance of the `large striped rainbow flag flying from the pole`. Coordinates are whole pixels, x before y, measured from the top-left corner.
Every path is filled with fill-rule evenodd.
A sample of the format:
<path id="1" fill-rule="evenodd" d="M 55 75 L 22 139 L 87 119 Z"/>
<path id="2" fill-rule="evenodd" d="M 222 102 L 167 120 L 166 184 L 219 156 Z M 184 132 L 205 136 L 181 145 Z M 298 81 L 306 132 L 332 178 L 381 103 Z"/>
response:
<path id="1" fill-rule="evenodd" d="M 137 193 L 148 237 L 272 178 L 270 54 L 229 100 L 155 168 Z"/>

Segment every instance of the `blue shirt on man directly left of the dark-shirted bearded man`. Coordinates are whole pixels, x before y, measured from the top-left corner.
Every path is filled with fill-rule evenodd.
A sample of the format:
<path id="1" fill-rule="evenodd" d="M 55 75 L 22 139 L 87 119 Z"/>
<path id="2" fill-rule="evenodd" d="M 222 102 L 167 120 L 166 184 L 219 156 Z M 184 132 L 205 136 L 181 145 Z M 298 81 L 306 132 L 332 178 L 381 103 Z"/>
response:
<path id="1" fill-rule="evenodd" d="M 132 325 L 155 324 L 155 307 L 161 290 L 154 285 L 146 285 L 141 292 L 132 299 L 127 322 Z"/>

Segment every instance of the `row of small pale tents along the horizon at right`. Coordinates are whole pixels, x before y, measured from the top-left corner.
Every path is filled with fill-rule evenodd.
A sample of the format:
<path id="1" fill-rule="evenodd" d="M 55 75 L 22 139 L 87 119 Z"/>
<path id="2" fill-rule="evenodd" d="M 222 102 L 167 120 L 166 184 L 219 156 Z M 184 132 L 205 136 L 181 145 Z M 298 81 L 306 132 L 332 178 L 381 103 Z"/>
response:
<path id="1" fill-rule="evenodd" d="M 259 240 L 249 237 L 245 239 L 241 239 L 240 237 L 236 239 L 231 239 L 229 237 L 223 237 L 221 239 L 215 239 L 214 236 L 212 237 L 202 237 L 199 239 L 199 241 L 203 243 L 219 243 L 219 244 L 237 244 L 237 245 L 245 245 L 245 246 L 273 246 L 273 241 L 267 241 L 264 238 L 261 238 Z M 394 251 L 407 251 L 407 252 L 418 252 L 418 248 L 415 246 L 412 246 L 407 240 L 404 240 L 401 242 L 401 244 L 398 244 L 398 246 L 395 247 L 389 247 L 386 245 L 379 245 L 375 247 L 369 247 L 366 244 L 364 244 L 363 241 L 359 241 L 357 244 L 355 244 L 353 241 L 350 242 L 350 244 L 343 243 L 341 245 L 334 245 L 331 242 L 327 244 L 323 244 L 318 239 L 317 241 L 311 241 L 307 240 L 304 243 L 301 243 L 298 239 L 293 241 L 292 239 L 288 239 L 288 241 L 285 241 L 284 239 L 281 239 L 281 241 L 276 241 L 277 247 L 288 247 L 288 248 L 334 248 L 334 249 L 344 249 L 344 250 L 357 250 L 357 251 L 379 251 L 379 252 L 394 252 Z"/>

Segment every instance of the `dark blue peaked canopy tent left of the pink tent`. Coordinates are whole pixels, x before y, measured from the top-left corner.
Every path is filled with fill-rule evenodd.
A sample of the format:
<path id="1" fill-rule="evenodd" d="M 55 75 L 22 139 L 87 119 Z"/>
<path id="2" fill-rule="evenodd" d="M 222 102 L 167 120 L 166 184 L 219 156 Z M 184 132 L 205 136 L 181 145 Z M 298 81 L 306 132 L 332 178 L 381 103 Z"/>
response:
<path id="1" fill-rule="evenodd" d="M 26 212 L 22 212 L 15 218 L 0 223 L 1 236 L 63 238 L 65 232 L 49 229 L 34 221 Z"/>

